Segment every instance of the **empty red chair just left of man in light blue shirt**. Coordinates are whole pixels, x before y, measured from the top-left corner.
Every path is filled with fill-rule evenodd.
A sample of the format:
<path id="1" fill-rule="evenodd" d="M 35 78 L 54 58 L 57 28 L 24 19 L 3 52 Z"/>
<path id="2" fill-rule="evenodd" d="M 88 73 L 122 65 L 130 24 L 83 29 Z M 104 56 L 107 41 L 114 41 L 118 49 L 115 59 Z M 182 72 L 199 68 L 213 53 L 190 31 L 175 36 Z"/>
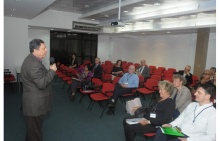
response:
<path id="1" fill-rule="evenodd" d="M 115 87 L 112 83 L 109 83 L 109 82 L 104 83 L 102 86 L 102 91 L 100 93 L 94 93 L 90 95 L 90 98 L 92 101 L 90 102 L 88 109 L 90 109 L 91 111 L 94 103 L 98 102 L 99 105 L 103 108 L 102 114 L 100 116 L 101 118 L 107 107 L 107 104 L 105 107 L 103 107 L 102 102 L 107 101 L 113 95 L 114 88 Z"/>

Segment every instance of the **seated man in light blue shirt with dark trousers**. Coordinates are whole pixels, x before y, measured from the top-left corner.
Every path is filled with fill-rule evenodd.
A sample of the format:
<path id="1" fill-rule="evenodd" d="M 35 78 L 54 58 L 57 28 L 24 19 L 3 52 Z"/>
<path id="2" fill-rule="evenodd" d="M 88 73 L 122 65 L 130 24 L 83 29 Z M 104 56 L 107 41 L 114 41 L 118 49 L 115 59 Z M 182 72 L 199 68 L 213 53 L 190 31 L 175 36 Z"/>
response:
<path id="1" fill-rule="evenodd" d="M 130 65 L 128 68 L 128 73 L 125 73 L 119 80 L 119 84 L 115 86 L 112 97 L 110 98 L 110 102 L 108 104 L 109 108 L 115 106 L 116 101 L 119 96 L 123 94 L 128 94 L 132 92 L 133 88 L 137 88 L 139 84 L 139 78 L 135 74 L 135 66 Z M 107 114 L 112 114 L 112 109 L 110 109 Z"/>

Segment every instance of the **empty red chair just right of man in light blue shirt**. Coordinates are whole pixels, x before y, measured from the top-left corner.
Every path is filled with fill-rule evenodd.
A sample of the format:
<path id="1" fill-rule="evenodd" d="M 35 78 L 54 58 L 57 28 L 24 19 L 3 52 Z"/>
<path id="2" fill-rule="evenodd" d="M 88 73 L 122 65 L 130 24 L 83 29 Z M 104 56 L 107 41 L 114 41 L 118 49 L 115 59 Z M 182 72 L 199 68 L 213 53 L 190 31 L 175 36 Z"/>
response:
<path id="1" fill-rule="evenodd" d="M 158 81 L 156 79 L 151 79 L 151 78 L 147 79 L 143 88 L 137 89 L 137 91 L 141 94 L 141 96 L 143 97 L 145 101 L 146 101 L 145 95 L 153 94 L 149 104 L 151 104 L 153 98 L 156 99 L 157 90 L 158 90 Z"/>

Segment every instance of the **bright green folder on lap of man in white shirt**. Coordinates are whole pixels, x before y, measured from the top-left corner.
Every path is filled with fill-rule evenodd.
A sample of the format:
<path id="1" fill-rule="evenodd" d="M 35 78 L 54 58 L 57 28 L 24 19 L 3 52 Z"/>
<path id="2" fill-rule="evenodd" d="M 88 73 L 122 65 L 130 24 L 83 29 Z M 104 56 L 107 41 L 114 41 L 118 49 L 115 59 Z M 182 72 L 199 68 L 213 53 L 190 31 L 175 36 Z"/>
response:
<path id="1" fill-rule="evenodd" d="M 160 127 L 163 134 L 177 136 L 177 137 L 183 137 L 187 138 L 188 136 L 183 134 L 177 127 Z"/>

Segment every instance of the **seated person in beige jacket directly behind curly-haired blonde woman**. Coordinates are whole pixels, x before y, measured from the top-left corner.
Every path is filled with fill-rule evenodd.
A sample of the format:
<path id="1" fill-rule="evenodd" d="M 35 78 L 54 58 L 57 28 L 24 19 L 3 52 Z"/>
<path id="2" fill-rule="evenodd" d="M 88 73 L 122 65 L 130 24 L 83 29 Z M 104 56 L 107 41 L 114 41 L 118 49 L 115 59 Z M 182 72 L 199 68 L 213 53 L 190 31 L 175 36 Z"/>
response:
<path id="1" fill-rule="evenodd" d="M 176 119 L 180 113 L 192 102 L 190 90 L 184 86 L 186 79 L 179 74 L 173 76 L 173 85 L 175 87 L 172 98 L 176 103 L 176 109 L 173 118 Z"/>

